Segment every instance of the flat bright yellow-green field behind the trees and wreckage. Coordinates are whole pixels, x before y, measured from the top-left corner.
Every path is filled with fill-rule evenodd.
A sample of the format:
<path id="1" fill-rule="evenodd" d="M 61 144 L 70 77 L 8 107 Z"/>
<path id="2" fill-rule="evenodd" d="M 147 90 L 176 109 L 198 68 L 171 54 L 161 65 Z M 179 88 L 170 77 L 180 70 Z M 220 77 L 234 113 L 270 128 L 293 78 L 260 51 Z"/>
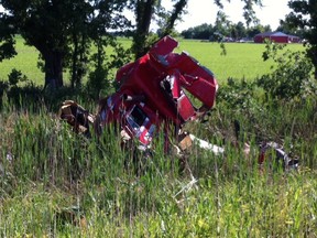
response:
<path id="1" fill-rule="evenodd" d="M 125 47 L 131 45 L 130 40 L 121 40 L 121 43 Z M 264 47 L 264 44 L 227 43 L 227 55 L 221 55 L 222 50 L 218 43 L 179 40 L 176 51 L 189 53 L 201 65 L 214 72 L 220 83 L 226 83 L 228 77 L 250 80 L 269 73 L 273 63 L 263 62 Z M 289 44 L 287 47 L 294 51 L 303 50 L 300 44 Z M 14 58 L 0 63 L 0 79 L 6 79 L 11 69 L 17 68 L 28 78 L 42 85 L 44 74 L 36 66 L 39 52 L 34 47 L 26 46 L 20 36 L 17 37 L 17 51 L 18 55 Z M 65 74 L 66 82 L 67 77 L 69 76 Z"/>

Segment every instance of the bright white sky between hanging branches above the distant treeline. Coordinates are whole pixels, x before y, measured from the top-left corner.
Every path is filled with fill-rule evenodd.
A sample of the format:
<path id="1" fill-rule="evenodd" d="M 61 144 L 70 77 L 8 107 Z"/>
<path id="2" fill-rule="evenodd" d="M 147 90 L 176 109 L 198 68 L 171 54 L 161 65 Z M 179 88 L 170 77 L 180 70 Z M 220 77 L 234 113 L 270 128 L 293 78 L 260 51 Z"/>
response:
<path id="1" fill-rule="evenodd" d="M 255 14 L 260 19 L 260 24 L 271 25 L 274 31 L 280 25 L 280 20 L 291 12 L 287 6 L 289 0 L 262 0 L 262 8 L 255 7 Z M 214 0 L 188 0 L 187 14 L 183 17 L 183 22 L 178 22 L 176 31 L 182 32 L 188 28 L 197 26 L 203 23 L 214 24 L 217 11 L 219 10 Z M 241 0 L 222 0 L 223 11 L 232 23 L 243 19 L 243 2 Z M 171 8 L 171 0 L 162 0 L 165 8 Z"/>

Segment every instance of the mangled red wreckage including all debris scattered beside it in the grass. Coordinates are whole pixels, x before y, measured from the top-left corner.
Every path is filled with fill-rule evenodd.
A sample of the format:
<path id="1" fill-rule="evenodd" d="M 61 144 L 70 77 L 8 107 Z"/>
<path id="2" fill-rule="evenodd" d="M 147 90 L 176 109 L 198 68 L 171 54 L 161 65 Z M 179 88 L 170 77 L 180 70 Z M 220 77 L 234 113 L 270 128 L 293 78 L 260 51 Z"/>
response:
<path id="1" fill-rule="evenodd" d="M 116 75 L 119 89 L 99 101 L 97 115 L 66 100 L 59 117 L 86 136 L 90 134 L 90 128 L 100 134 L 109 125 L 119 126 L 121 140 L 136 141 L 141 150 L 151 150 L 151 142 L 163 131 L 165 152 L 176 147 L 182 153 L 195 142 L 215 154 L 222 154 L 223 148 L 183 131 L 187 121 L 203 118 L 214 107 L 218 83 L 214 74 L 188 53 L 173 52 L 177 45 L 176 40 L 165 36 L 145 55 L 122 66 Z M 176 144 L 168 139 L 171 134 Z M 269 149 L 282 159 L 284 167 L 297 166 L 276 143 L 262 145 L 259 163 L 263 163 Z"/>

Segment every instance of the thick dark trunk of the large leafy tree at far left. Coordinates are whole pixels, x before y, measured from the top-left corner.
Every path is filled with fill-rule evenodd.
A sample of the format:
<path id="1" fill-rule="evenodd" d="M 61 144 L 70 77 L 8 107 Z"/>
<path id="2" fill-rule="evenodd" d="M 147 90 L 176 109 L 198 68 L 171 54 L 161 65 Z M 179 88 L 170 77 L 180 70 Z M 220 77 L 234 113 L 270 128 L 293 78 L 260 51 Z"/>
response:
<path id="1" fill-rule="evenodd" d="M 58 52 L 44 55 L 45 61 L 45 88 L 53 89 L 63 86 L 63 56 Z"/>

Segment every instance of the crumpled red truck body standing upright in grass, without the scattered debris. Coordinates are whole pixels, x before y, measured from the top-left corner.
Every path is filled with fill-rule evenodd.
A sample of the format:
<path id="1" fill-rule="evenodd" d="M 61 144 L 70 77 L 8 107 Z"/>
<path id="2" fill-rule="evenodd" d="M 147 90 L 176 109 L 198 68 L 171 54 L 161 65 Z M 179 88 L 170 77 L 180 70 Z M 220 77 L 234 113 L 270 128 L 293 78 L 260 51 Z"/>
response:
<path id="1" fill-rule="evenodd" d="M 165 36 L 144 56 L 121 67 L 120 88 L 100 105 L 100 126 L 120 120 L 122 130 L 149 145 L 155 131 L 181 129 L 209 110 L 218 88 L 214 74 L 187 53 L 174 53 L 177 42 Z M 198 99 L 196 108 L 190 100 Z"/>

